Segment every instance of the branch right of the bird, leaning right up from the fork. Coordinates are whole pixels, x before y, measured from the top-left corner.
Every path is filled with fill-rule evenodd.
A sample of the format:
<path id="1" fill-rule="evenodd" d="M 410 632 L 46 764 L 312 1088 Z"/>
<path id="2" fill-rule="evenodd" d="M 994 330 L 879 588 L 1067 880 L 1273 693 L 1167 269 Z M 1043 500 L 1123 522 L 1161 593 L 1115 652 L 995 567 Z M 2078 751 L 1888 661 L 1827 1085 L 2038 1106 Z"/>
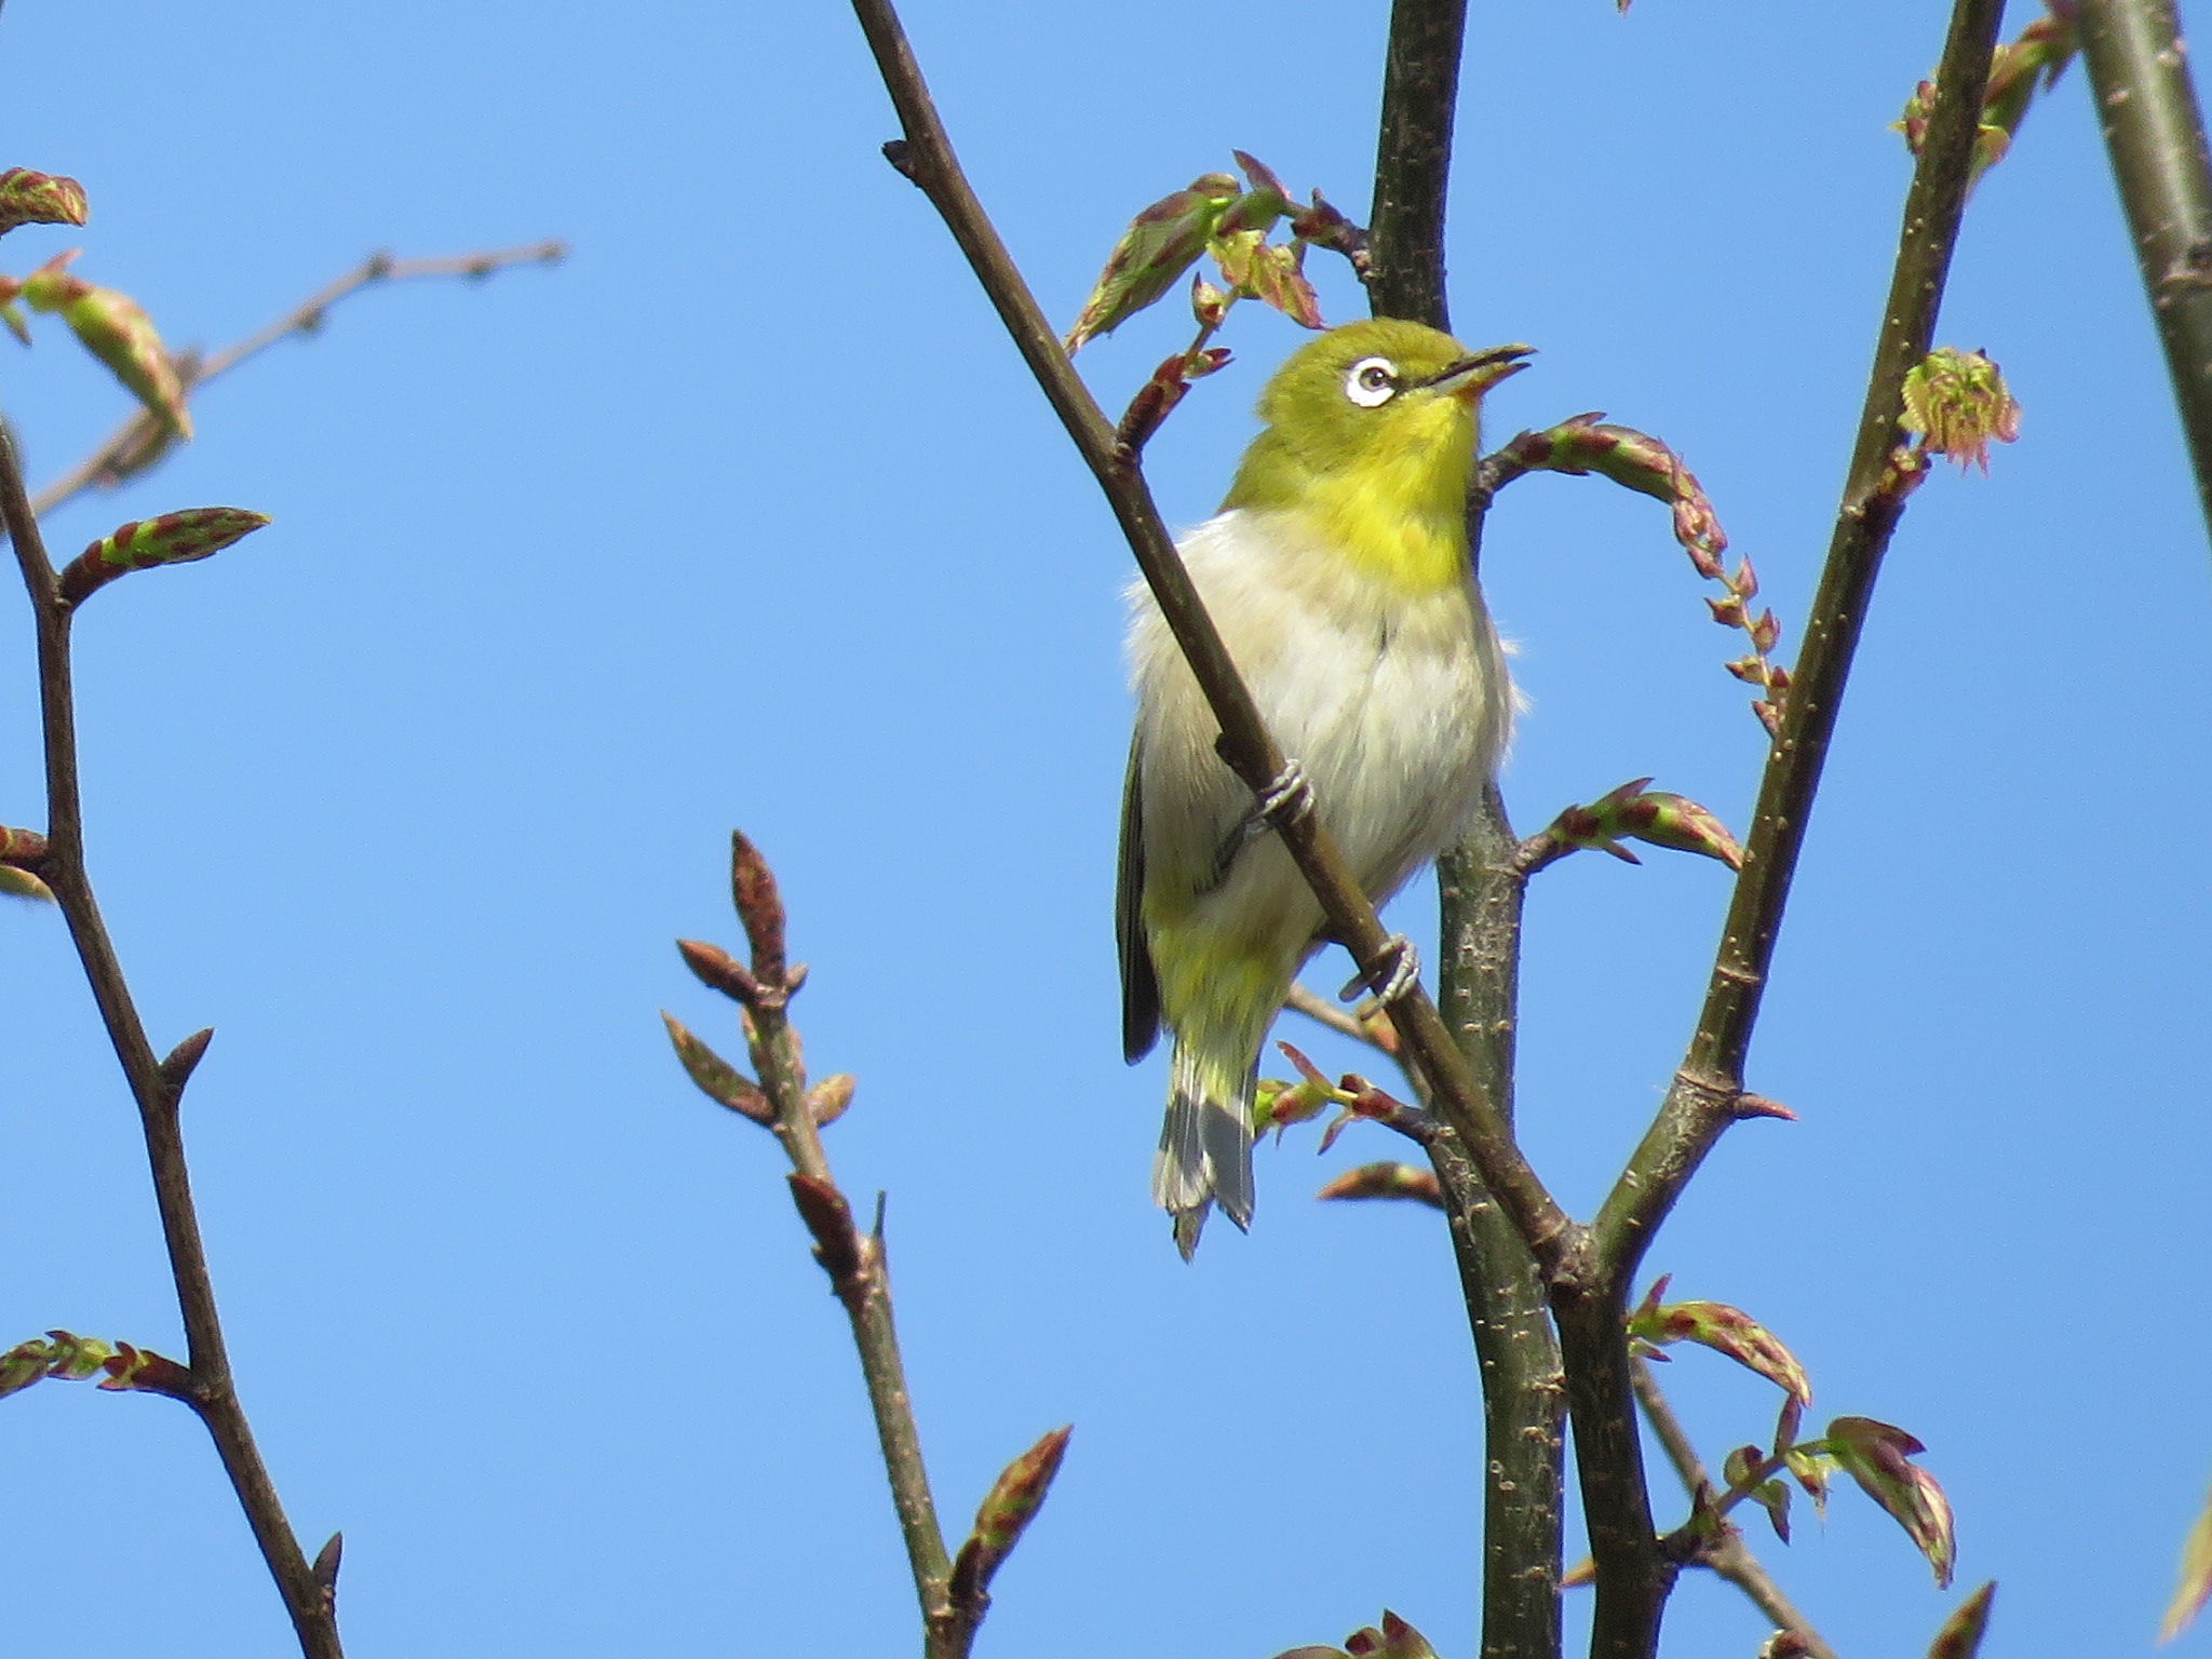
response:
<path id="1" fill-rule="evenodd" d="M 1898 418 L 1905 374 L 1927 356 L 1936 334 L 1936 312 L 1958 243 L 1982 88 L 1989 82 L 1989 58 L 2002 13 L 2004 0 L 1955 0 L 1951 13 L 1942 66 L 1936 73 L 1936 111 L 1905 199 L 1905 228 L 1898 237 L 1896 270 L 1882 307 L 1843 507 L 1805 624 L 1805 648 L 1790 679 L 1781 734 L 1767 752 L 1759 783 L 1743 872 L 1730 898 L 1697 1033 L 1657 1121 L 1644 1135 L 1595 1223 L 1597 1250 L 1615 1276 L 1635 1272 L 1652 1230 L 1736 1117 L 1743 1055 L 1759 1018 L 1759 998 L 1790 900 L 1790 878 L 1805 845 L 1820 768 L 1836 732 L 1836 710 L 1882 553 L 1909 493 L 1909 478 L 1900 476 L 1893 462 L 1902 442 Z"/>

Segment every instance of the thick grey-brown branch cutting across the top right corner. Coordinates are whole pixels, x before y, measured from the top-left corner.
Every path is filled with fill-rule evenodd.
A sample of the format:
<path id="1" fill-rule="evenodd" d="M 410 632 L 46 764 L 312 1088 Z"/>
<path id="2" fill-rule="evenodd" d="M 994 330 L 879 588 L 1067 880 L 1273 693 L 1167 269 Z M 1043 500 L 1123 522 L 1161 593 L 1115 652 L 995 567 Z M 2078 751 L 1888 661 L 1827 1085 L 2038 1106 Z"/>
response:
<path id="1" fill-rule="evenodd" d="M 2081 55 L 2212 529 L 2212 161 L 2172 0 L 2079 0 Z"/>

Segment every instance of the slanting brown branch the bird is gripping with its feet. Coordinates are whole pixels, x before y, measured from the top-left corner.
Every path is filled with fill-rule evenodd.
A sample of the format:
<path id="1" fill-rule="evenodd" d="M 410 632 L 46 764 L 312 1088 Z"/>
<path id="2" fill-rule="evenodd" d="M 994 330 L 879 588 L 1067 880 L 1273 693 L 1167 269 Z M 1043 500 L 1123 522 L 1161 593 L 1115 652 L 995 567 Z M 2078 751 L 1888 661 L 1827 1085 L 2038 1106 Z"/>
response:
<path id="1" fill-rule="evenodd" d="M 962 177 L 898 13 L 889 0 L 852 0 L 852 4 L 905 128 L 905 139 L 885 146 L 885 155 L 920 186 L 973 265 L 984 294 L 998 307 L 1000 321 L 1113 507 L 1115 520 L 1137 555 L 1137 566 L 1159 602 L 1161 617 L 1175 633 L 1214 719 L 1221 723 L 1217 743 L 1221 759 L 1254 794 L 1263 794 L 1283 772 L 1283 750 L 1267 734 L 1259 708 L 1252 703 L 1252 692 L 1230 661 L 1228 648 L 1175 551 L 1175 540 L 1152 504 L 1135 456 L 1115 440 L 1113 425 L 1091 398 L 1066 352 L 1060 349 L 1029 283 L 1022 281 L 1022 272 Z M 1352 878 L 1343 852 L 1314 814 L 1287 823 L 1279 834 L 1285 852 L 1298 865 L 1298 874 L 1321 900 L 1329 933 L 1345 945 L 1369 982 L 1380 984 L 1396 967 L 1396 947 L 1383 931 L 1367 894 Z M 1389 1013 L 1411 1064 L 1420 1068 L 1433 1091 L 1438 1113 L 1467 1144 L 1484 1183 L 1522 1237 L 1531 1241 L 1537 1259 L 1559 1261 L 1571 1254 L 1582 1230 L 1553 1201 L 1520 1155 L 1467 1060 L 1444 1031 L 1436 1004 L 1416 989 L 1391 1002 Z"/>

